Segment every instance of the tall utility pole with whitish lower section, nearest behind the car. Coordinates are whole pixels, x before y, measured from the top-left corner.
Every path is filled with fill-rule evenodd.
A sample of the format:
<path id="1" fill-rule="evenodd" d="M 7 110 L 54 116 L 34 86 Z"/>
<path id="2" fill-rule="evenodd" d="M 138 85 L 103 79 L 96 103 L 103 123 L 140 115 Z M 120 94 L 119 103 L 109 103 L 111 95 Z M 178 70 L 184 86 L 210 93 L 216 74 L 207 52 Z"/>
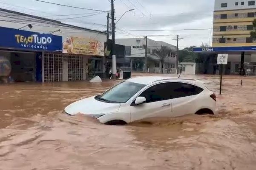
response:
<path id="1" fill-rule="evenodd" d="M 111 26 L 112 26 L 112 74 L 113 80 L 115 80 L 116 73 L 116 60 L 115 60 L 115 11 L 114 0 L 111 0 Z"/>

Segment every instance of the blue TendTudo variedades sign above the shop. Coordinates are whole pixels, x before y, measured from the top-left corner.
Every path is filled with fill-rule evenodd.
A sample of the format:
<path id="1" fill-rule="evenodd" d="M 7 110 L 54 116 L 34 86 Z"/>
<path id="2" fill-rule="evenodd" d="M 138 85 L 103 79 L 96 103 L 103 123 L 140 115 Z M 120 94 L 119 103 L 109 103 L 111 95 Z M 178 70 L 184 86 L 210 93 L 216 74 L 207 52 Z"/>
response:
<path id="1" fill-rule="evenodd" d="M 62 36 L 0 27 L 0 47 L 62 52 Z"/>

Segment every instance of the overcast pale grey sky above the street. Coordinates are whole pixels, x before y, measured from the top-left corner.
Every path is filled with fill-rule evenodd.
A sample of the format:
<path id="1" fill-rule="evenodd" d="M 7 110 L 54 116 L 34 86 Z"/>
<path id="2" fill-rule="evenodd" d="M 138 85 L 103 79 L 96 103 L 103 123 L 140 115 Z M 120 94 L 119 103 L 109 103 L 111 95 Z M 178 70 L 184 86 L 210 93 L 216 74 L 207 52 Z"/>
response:
<path id="1" fill-rule="evenodd" d="M 110 10 L 109 0 L 44 0 L 70 6 Z M 88 16 L 95 11 L 56 6 L 37 2 L 35 0 L 0 0 L 1 8 L 20 11 L 37 16 L 51 16 L 48 18 L 60 20 L 72 25 L 106 31 L 106 13 Z M 115 0 L 115 16 L 118 20 L 129 10 L 116 25 L 116 29 L 196 29 L 212 28 L 214 0 Z M 87 17 L 82 17 L 87 15 Z M 67 19 L 81 17 L 77 19 Z M 65 20 L 66 19 L 66 20 Z M 96 23 L 96 24 L 93 24 Z M 99 24 L 99 25 L 98 25 Z M 181 35 L 180 48 L 191 45 L 201 45 L 202 42 L 211 43 L 211 30 L 200 31 L 117 31 L 117 38 L 142 37 L 148 35 L 150 39 L 168 42 L 176 45 L 175 35 Z M 153 35 L 153 36 L 152 36 Z M 170 35 L 159 37 L 156 35 Z M 194 36 L 191 36 L 194 35 Z"/>

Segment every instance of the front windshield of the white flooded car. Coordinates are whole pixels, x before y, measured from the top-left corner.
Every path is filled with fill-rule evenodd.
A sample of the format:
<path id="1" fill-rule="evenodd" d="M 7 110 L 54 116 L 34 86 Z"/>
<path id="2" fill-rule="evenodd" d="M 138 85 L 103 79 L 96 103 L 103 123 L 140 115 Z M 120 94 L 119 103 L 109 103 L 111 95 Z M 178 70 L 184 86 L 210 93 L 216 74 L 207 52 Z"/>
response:
<path id="1" fill-rule="evenodd" d="M 141 90 L 145 84 L 133 83 L 130 81 L 123 81 L 122 83 L 112 87 L 101 96 L 98 96 L 97 100 L 101 100 L 108 103 L 126 103 L 133 95 Z"/>

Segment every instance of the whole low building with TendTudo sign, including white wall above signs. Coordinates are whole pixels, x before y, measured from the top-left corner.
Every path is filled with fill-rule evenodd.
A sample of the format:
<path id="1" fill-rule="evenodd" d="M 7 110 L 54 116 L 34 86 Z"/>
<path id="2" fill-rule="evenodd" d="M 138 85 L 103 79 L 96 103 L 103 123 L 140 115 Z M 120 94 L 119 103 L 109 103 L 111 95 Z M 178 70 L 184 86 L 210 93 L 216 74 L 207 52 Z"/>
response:
<path id="1" fill-rule="evenodd" d="M 17 81 L 79 81 L 104 74 L 106 33 L 16 11 L 2 11 L 6 16 L 27 20 L 0 21 L 4 27 L 0 27 L 0 78 L 2 68 L 11 62 L 11 75 Z"/>

